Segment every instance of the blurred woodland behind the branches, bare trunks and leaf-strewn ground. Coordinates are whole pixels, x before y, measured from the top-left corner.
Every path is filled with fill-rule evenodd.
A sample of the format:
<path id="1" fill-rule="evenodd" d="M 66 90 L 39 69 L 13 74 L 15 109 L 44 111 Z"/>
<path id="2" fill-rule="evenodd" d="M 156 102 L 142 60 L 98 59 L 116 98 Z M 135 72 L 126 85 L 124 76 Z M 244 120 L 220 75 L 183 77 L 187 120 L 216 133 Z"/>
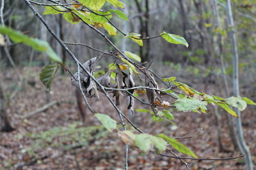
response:
<path id="1" fill-rule="evenodd" d="M 112 22 L 116 27 L 124 32 L 138 32 L 144 38 L 157 36 L 162 31 L 170 32 L 183 36 L 189 46 L 172 45 L 164 39 L 155 38 L 144 41 L 144 46 L 141 47 L 134 41 L 124 39 L 122 34 L 108 36 L 118 48 L 140 55 L 145 66 L 150 66 L 161 77 L 175 76 L 179 81 L 207 94 L 221 97 L 234 95 L 232 43 L 228 36 L 231 28 L 227 21 L 225 1 L 123 2 L 126 5 L 123 11 L 129 22 L 113 17 Z M 33 6 L 41 14 L 44 13 L 44 6 Z M 256 101 L 256 1 L 234 0 L 232 10 L 240 57 L 241 96 Z M 43 17 L 63 41 L 86 43 L 104 52 L 113 50 L 102 36 L 83 23 L 70 24 L 61 15 Z M 49 42 L 68 69 L 72 73 L 76 72 L 76 64 L 70 60 L 68 53 L 52 38 L 24 1 L 4 1 L 3 19 L 5 25 Z M 81 62 L 100 55 L 86 46 L 68 47 Z M 100 60 L 102 69 L 108 68 L 110 62 Z M 6 46 L 0 46 L 0 98 L 5 106 L 2 111 L 6 113 L 10 123 L 3 130 L 13 130 L 0 132 L 0 169 L 122 169 L 124 144 L 116 138 L 116 134 L 105 131 L 89 113 L 81 94 L 71 85 L 70 74 L 61 68 L 51 91 L 47 91 L 42 85 L 39 73 L 47 64 L 47 55 L 26 45 L 9 42 Z M 89 103 L 99 113 L 116 117 L 109 102 L 103 96 L 102 100 L 92 99 Z M 136 105 L 136 109 L 142 108 L 147 107 Z M 189 139 L 180 139 L 180 142 L 189 146 L 198 157 L 225 158 L 239 155 L 234 143 L 232 124 L 228 122 L 230 118 L 225 111 L 214 106 L 210 112 L 212 114 L 173 111 L 173 124 L 159 124 L 150 120 L 146 113 L 135 113 L 133 121 L 152 134 L 167 131 L 170 136 L 191 136 Z M 246 108 L 241 118 L 244 138 L 255 163 L 255 106 Z M 1 126 L 3 127 L 3 121 Z M 191 169 L 244 167 L 243 159 L 188 162 Z M 141 154 L 137 148 L 131 150 L 129 164 L 131 169 L 185 169 L 180 160 L 153 153 Z"/>

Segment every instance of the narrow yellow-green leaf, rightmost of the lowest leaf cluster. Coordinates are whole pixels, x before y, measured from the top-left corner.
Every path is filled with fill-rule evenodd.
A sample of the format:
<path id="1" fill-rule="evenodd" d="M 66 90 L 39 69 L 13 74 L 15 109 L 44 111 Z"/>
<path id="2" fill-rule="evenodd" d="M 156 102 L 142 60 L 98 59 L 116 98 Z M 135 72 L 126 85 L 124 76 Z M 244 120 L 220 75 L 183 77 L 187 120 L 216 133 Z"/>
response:
<path id="1" fill-rule="evenodd" d="M 168 136 L 165 136 L 164 134 L 159 134 L 157 136 L 159 138 L 163 138 L 164 140 L 168 141 L 170 143 L 170 145 L 172 145 L 172 147 L 175 148 L 175 150 L 177 150 L 181 153 L 185 153 L 186 155 L 190 155 L 191 157 L 197 158 L 197 156 L 195 155 L 195 153 L 193 151 L 191 151 L 189 148 L 187 148 L 182 143 L 179 143 L 179 141 L 177 141 L 176 139 L 169 138 Z"/>

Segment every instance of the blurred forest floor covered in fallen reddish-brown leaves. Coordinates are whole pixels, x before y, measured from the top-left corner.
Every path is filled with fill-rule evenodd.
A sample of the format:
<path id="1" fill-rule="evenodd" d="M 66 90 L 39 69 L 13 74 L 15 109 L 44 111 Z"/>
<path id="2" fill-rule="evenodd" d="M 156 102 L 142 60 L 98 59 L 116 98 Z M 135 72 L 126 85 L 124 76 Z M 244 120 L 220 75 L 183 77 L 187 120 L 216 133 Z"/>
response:
<path id="1" fill-rule="evenodd" d="M 33 67 L 29 71 L 28 84 L 22 89 L 17 85 L 17 76 L 13 76 L 15 74 L 12 71 L 6 70 L 3 73 L 4 77 L 1 79 L 3 80 L 3 89 L 10 99 L 6 111 L 15 131 L 0 132 L 0 169 L 123 169 L 125 145 L 118 138 L 116 132 L 106 132 L 101 127 L 95 127 L 97 130 L 87 129 L 86 134 L 85 132 L 77 134 L 76 129 L 83 129 L 83 127 L 79 123 L 81 117 L 77 109 L 75 87 L 70 83 L 70 76 L 58 74 L 51 92 L 47 94 L 44 85 L 38 78 L 40 69 L 42 68 Z M 28 74 L 26 71 L 28 71 L 26 68 L 20 69 L 20 73 L 25 76 Z M 197 90 L 203 89 L 199 90 L 208 94 L 213 94 L 214 89 L 218 92 L 218 88 L 220 88 L 217 87 L 218 85 L 207 85 L 205 88 L 206 85 L 202 83 L 192 86 Z M 15 93 L 13 94 L 13 92 Z M 241 96 L 243 95 L 242 92 Z M 32 117 L 22 118 L 29 112 L 54 100 L 59 103 Z M 89 102 L 98 113 L 107 114 L 118 120 L 117 113 L 106 97 L 101 95 L 100 101 L 91 99 Z M 126 106 L 126 103 L 124 105 Z M 121 108 L 124 112 L 125 106 Z M 147 107 L 136 103 L 136 108 Z M 244 138 L 252 152 L 253 161 L 256 162 L 256 118 L 253 110 L 255 110 L 255 106 L 249 106 L 243 111 L 242 119 Z M 211 108 L 210 111 L 212 114 L 172 111 L 175 117 L 173 122 L 177 124 L 177 127 L 168 122 L 152 122 L 147 113 L 135 113 L 133 121 L 141 130 L 150 134 L 164 133 L 172 137 L 191 136 L 191 138 L 179 139 L 179 141 L 193 150 L 200 158 L 228 158 L 241 155 L 238 151 L 234 151 L 225 117 L 225 114 L 228 113 L 221 109 L 219 110 L 221 141 L 225 152 L 219 152 L 214 109 Z M 86 127 L 100 125 L 99 120 L 93 117 L 89 110 L 86 114 Z M 57 128 L 53 129 L 54 127 Z M 65 129 L 65 127 L 67 128 Z M 53 131 L 49 131 L 51 129 Z M 43 131 L 46 132 L 42 133 Z M 77 136 L 74 136 L 72 132 Z M 52 145 L 52 143 L 55 144 Z M 72 145 L 74 143 L 76 145 Z M 165 154 L 170 155 L 167 152 Z M 178 155 L 186 157 L 180 153 Z M 192 170 L 238 170 L 244 167 L 243 159 L 186 160 L 186 162 L 189 163 Z M 156 153 L 141 153 L 138 148 L 130 148 L 129 169 L 178 170 L 186 169 L 186 167 L 179 159 L 161 157 Z"/>

